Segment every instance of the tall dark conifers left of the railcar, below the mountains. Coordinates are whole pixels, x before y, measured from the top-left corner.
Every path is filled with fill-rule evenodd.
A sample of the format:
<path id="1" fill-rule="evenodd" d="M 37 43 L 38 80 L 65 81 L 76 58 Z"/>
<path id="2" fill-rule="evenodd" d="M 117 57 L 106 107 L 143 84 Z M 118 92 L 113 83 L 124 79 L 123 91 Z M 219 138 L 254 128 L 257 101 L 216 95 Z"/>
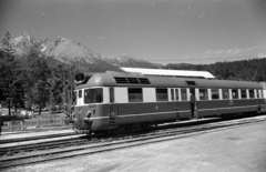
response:
<path id="1" fill-rule="evenodd" d="M 40 51 L 40 44 L 30 47 L 21 61 L 9 32 L 4 36 L 0 51 L 0 103 L 10 109 L 41 109 L 66 105 L 70 112 L 73 103 L 73 77 L 79 72 L 71 64 L 49 65 L 47 57 Z"/>

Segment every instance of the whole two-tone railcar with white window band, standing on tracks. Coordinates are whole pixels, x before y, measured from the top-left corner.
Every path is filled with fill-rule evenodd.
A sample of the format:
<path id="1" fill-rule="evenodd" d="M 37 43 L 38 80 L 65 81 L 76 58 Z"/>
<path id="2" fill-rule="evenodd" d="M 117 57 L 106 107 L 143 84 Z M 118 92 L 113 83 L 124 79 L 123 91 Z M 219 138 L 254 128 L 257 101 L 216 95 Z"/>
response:
<path id="1" fill-rule="evenodd" d="M 123 133 L 200 118 L 266 111 L 266 84 L 106 71 L 78 73 L 73 129 Z"/>

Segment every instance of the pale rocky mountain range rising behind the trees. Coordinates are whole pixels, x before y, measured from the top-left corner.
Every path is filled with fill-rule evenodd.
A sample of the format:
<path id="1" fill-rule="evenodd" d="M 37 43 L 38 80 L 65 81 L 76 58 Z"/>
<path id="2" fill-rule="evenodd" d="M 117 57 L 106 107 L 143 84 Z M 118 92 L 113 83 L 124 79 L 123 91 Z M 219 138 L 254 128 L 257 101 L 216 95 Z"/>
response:
<path id="1" fill-rule="evenodd" d="M 28 33 L 12 39 L 12 43 L 17 50 L 18 57 L 27 55 L 31 47 L 40 49 L 52 63 L 69 63 L 75 64 L 83 69 L 106 69 L 115 70 L 119 67 L 132 68 L 157 68 L 157 64 L 149 61 L 134 59 L 130 55 L 120 57 L 102 57 L 99 53 L 90 50 L 76 41 L 69 40 L 63 37 L 55 37 L 53 39 L 37 40 Z"/>

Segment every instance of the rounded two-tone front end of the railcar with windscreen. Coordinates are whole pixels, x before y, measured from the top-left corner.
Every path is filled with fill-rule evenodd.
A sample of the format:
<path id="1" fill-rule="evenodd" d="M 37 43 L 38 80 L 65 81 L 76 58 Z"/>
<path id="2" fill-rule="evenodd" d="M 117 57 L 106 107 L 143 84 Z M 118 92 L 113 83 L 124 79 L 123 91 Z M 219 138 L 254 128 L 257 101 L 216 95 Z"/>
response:
<path id="1" fill-rule="evenodd" d="M 76 90 L 73 120 L 78 130 L 99 131 L 109 129 L 108 88 L 83 88 Z"/>

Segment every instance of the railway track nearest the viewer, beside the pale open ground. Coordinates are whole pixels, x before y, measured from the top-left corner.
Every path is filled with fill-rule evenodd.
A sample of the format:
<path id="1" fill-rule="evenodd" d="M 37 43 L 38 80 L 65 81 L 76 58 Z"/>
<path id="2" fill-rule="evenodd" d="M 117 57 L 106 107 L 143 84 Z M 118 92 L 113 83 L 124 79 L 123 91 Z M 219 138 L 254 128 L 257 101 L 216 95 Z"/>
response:
<path id="1" fill-rule="evenodd" d="M 178 138 L 193 136 L 216 131 L 229 130 L 243 125 L 265 122 L 266 115 L 247 118 L 241 120 L 223 121 L 216 123 L 201 124 L 188 128 L 176 128 L 170 130 L 158 130 L 151 133 L 132 134 L 117 138 L 106 138 L 96 140 L 96 142 L 86 142 L 83 145 L 74 145 L 55 150 L 44 150 L 39 152 L 30 152 L 28 154 L 18 154 L 14 156 L 1 156 L 0 169 L 13 168 L 19 165 L 28 165 L 32 163 L 41 163 L 45 161 L 54 161 L 78 155 L 93 154 L 106 152 L 130 146 L 143 145 L 154 142 L 162 142 Z"/>

